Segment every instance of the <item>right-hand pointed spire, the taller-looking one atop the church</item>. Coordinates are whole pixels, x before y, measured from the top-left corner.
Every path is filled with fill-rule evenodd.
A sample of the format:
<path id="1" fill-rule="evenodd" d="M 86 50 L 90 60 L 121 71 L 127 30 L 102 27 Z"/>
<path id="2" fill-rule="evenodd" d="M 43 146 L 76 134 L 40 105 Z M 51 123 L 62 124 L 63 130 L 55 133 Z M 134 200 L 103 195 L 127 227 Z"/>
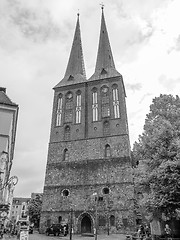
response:
<path id="1" fill-rule="evenodd" d="M 108 32 L 104 18 L 104 5 L 101 5 L 101 29 L 99 38 L 99 47 L 96 60 L 95 73 L 89 80 L 95 80 L 106 77 L 120 76 L 121 74 L 115 69 L 114 59 L 109 42 Z"/>

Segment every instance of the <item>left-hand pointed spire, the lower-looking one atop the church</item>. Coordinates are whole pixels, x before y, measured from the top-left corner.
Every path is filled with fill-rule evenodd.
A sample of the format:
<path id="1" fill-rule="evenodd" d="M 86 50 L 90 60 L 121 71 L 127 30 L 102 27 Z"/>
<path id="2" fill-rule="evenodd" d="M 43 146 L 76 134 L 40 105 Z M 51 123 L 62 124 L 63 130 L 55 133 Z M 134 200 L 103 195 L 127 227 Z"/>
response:
<path id="1" fill-rule="evenodd" d="M 79 13 L 77 14 L 77 23 L 74 33 L 73 44 L 69 61 L 67 64 L 64 78 L 55 86 L 70 85 L 73 83 L 86 81 L 86 73 L 84 67 L 84 58 L 81 44 L 81 32 L 79 24 Z"/>

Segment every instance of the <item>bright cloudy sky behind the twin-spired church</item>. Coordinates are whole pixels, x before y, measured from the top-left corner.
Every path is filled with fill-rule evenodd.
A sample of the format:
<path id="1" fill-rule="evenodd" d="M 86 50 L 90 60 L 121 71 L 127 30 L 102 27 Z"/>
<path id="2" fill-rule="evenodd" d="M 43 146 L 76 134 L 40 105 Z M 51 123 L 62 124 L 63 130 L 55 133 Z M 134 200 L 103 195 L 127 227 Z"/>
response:
<path id="1" fill-rule="evenodd" d="M 0 87 L 19 105 L 14 196 L 42 192 L 53 87 L 64 77 L 80 13 L 86 75 L 95 69 L 101 1 L 1 0 Z M 180 1 L 104 0 L 116 69 L 123 75 L 131 147 L 154 97 L 179 95 Z"/>

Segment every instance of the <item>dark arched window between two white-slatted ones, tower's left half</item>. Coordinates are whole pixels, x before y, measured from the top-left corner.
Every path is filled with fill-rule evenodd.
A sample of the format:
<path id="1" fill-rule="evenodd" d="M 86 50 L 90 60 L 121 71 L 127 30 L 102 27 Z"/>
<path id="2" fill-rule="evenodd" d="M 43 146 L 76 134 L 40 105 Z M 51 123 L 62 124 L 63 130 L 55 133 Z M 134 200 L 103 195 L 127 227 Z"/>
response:
<path id="1" fill-rule="evenodd" d="M 72 122 L 73 119 L 73 94 L 68 92 L 66 94 L 66 104 L 65 104 L 65 118 L 66 123 Z"/>

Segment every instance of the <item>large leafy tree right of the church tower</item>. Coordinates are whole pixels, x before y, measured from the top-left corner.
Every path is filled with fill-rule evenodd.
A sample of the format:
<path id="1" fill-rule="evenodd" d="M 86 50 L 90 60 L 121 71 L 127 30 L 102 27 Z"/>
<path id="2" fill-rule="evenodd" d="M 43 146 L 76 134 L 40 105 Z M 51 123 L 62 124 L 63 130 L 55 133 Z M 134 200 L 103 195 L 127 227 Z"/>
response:
<path id="1" fill-rule="evenodd" d="M 180 99 L 153 99 L 144 131 L 133 146 L 134 160 L 147 160 L 146 172 L 136 170 L 135 184 L 144 192 L 141 204 L 155 215 L 172 218 L 180 209 Z"/>

